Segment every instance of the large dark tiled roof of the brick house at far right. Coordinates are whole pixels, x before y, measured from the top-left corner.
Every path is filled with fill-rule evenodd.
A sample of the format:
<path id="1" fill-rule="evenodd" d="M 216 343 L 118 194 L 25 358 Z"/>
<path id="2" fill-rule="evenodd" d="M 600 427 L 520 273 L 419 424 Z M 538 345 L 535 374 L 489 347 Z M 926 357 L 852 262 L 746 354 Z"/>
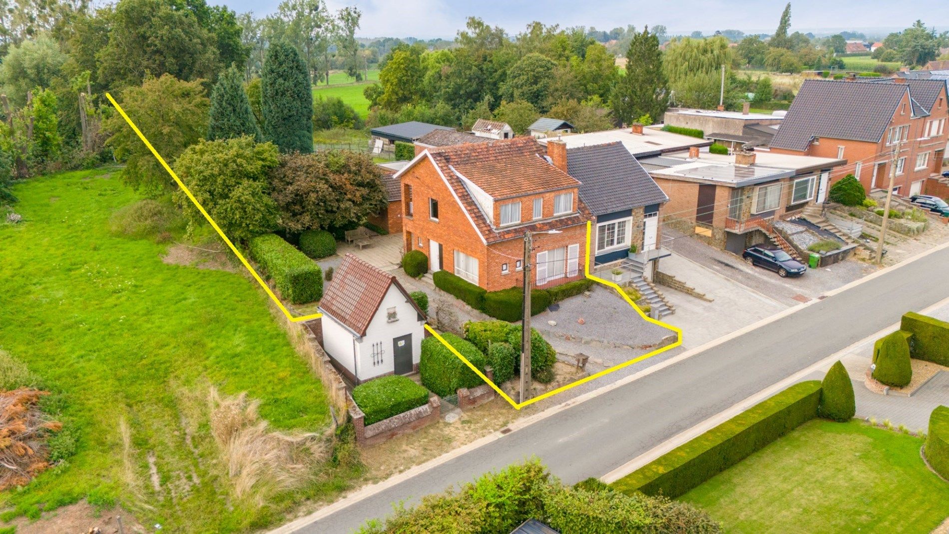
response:
<path id="1" fill-rule="evenodd" d="M 815 137 L 877 142 L 907 90 L 903 83 L 805 80 L 771 146 L 804 151 Z"/>

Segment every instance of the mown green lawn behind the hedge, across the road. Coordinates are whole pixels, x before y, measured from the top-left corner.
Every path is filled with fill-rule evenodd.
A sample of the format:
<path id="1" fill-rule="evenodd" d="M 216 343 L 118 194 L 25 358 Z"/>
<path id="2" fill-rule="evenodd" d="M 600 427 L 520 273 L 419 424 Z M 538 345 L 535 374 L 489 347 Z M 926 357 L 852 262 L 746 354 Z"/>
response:
<path id="1" fill-rule="evenodd" d="M 949 484 L 922 463 L 922 439 L 860 421 L 814 420 L 681 500 L 726 532 L 919 532 L 949 516 Z"/>

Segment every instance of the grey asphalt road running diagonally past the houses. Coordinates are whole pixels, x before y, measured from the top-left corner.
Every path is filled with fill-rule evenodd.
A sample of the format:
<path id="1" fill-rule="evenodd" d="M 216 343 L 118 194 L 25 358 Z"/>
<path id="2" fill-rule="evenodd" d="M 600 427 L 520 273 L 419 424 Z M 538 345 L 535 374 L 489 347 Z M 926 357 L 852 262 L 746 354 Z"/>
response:
<path id="1" fill-rule="evenodd" d="M 949 249 L 941 249 L 505 435 L 296 532 L 349 533 L 366 520 L 390 513 L 392 503 L 414 503 L 421 495 L 474 480 L 487 470 L 531 455 L 540 457 L 568 484 L 603 476 L 677 433 L 898 322 L 905 311 L 949 297 L 946 265 Z"/>

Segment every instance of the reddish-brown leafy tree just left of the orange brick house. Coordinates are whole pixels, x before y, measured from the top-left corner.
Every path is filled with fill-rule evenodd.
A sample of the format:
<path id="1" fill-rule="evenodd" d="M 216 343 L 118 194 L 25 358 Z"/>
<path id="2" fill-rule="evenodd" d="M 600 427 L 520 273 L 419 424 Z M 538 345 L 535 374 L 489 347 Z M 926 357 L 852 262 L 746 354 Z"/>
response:
<path id="1" fill-rule="evenodd" d="M 280 226 L 289 231 L 361 223 L 386 204 L 379 166 L 349 151 L 284 156 L 270 186 Z"/>

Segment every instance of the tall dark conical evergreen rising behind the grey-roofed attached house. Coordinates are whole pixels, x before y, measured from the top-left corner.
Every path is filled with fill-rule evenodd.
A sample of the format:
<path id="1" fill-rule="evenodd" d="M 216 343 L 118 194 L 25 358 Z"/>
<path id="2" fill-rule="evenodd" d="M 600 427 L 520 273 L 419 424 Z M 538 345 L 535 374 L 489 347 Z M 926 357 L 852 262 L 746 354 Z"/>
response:
<path id="1" fill-rule="evenodd" d="M 610 98 L 613 115 L 622 123 L 642 115 L 662 117 L 669 106 L 669 87 L 664 69 L 659 38 L 643 28 L 636 33 L 626 50 L 626 73 L 620 78 Z"/>

